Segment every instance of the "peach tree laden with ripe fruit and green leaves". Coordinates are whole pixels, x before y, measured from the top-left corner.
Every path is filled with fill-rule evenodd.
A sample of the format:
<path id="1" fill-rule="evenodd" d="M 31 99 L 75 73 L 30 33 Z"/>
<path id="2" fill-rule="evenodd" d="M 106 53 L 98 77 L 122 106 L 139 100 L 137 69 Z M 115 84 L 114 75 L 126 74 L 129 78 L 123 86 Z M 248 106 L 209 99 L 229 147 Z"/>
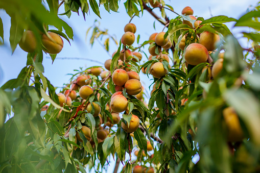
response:
<path id="1" fill-rule="evenodd" d="M 0 88 L 0 172 L 102 172 L 112 162 L 114 172 L 258 172 L 259 6 L 239 19 L 204 19 L 162 0 L 127 0 L 131 20 L 147 11 L 165 32 L 139 42 L 130 20 L 104 66 L 80 68 L 56 89 L 43 75 L 43 55 L 55 61 L 74 36 L 59 16 L 82 12 L 85 19 L 92 9 L 100 17 L 102 6 L 117 12 L 118 4 L 0 1 L 11 17 L 12 52 L 17 44 L 28 52 L 18 77 Z M 252 46 L 242 47 L 226 22 L 250 28 L 241 36 Z M 117 42 L 97 24 L 89 31 L 91 44 L 107 37 L 104 51 Z M 0 37 L 3 44 L 1 18 Z M 140 72 L 153 80 L 151 95 Z"/>

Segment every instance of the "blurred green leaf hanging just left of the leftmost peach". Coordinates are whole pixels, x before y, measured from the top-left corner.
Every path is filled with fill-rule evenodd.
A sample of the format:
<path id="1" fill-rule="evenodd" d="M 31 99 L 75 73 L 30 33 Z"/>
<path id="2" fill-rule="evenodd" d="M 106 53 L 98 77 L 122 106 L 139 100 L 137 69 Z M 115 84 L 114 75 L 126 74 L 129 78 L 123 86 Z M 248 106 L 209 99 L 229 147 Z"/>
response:
<path id="1" fill-rule="evenodd" d="M 16 21 L 15 17 L 11 17 L 11 28 L 10 28 L 10 45 L 12 48 L 12 53 L 14 52 L 17 44 L 22 38 L 24 29 L 20 26 L 20 23 Z"/>

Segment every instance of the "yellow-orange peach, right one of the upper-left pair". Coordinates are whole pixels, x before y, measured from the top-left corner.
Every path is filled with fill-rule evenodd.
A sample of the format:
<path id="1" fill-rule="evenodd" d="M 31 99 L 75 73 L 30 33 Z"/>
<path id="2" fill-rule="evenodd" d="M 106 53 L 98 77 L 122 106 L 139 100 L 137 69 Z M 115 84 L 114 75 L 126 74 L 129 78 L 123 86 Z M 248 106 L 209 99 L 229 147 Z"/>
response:
<path id="1" fill-rule="evenodd" d="M 42 35 L 41 42 L 43 47 L 43 51 L 49 54 L 58 54 L 61 52 L 63 48 L 63 40 L 62 38 L 56 34 L 49 32 L 50 39 L 46 34 Z"/>

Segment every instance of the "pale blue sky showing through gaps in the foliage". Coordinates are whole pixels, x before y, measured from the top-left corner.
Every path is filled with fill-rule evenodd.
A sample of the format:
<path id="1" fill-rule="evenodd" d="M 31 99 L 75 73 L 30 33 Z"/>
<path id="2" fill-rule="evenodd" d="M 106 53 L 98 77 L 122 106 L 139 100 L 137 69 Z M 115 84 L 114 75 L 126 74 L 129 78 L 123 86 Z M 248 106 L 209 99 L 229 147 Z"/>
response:
<path id="1" fill-rule="evenodd" d="M 259 0 L 246 0 L 246 1 L 237 1 L 237 0 L 218 0 L 218 1 L 205 1 L 205 0 L 197 0 L 197 1 L 184 1 L 183 3 L 180 1 L 165 1 L 166 4 L 171 5 L 174 10 L 181 14 L 181 11 L 184 7 L 190 6 L 194 10 L 194 15 L 203 17 L 204 19 L 210 18 L 211 14 L 213 16 L 217 15 L 226 15 L 228 17 L 239 18 L 243 14 L 246 13 L 247 9 L 251 5 L 256 5 Z M 104 48 L 98 43 L 94 43 L 91 47 L 89 44 L 90 35 L 86 39 L 86 31 L 89 27 L 92 26 L 94 20 L 98 20 L 101 22 L 101 29 L 108 29 L 109 34 L 114 35 L 119 41 L 122 35 L 124 34 L 124 27 L 129 22 L 130 17 L 127 15 L 124 2 L 120 2 L 119 12 L 112 12 L 109 14 L 102 6 L 100 7 L 100 19 L 93 11 L 90 10 L 90 14 L 86 16 L 86 20 L 84 20 L 82 14 L 80 16 L 77 13 L 72 13 L 70 19 L 66 16 L 61 16 L 63 20 L 65 20 L 70 27 L 74 30 L 74 41 L 71 41 L 71 46 L 69 43 L 63 39 L 64 46 L 63 50 L 57 55 L 59 58 L 88 58 L 96 61 L 100 61 L 104 63 L 107 59 L 111 59 Z M 63 6 L 59 10 L 59 13 L 63 13 Z M 159 9 L 154 9 L 154 12 L 160 15 Z M 141 13 L 140 13 L 141 14 Z M 176 17 L 171 11 L 166 10 L 167 16 L 172 19 Z M 0 9 L 0 17 L 3 20 L 4 24 L 4 39 L 5 44 L 0 46 L 0 86 L 6 83 L 10 79 L 14 79 L 18 76 L 20 70 L 26 66 L 27 61 L 27 53 L 22 51 L 21 48 L 17 45 L 15 52 L 12 55 L 10 43 L 9 43 L 9 30 L 10 30 L 10 17 L 5 13 L 4 10 Z M 148 40 L 149 36 L 155 32 L 161 32 L 163 26 L 155 21 L 155 29 L 153 28 L 153 23 L 155 19 L 148 13 L 144 11 L 143 16 L 134 17 L 131 21 L 136 25 L 136 33 L 135 37 L 140 34 L 140 43 Z M 240 38 L 241 31 L 248 32 L 247 28 L 233 28 L 232 22 L 226 23 L 231 32 L 235 37 Z M 92 30 L 91 30 L 92 31 Z M 165 31 L 165 30 L 164 30 Z M 105 39 L 104 39 L 105 40 Z M 102 40 L 102 42 L 104 42 Z M 242 47 L 250 46 L 246 39 L 239 39 Z M 133 44 L 137 46 L 135 42 Z M 148 53 L 148 45 L 145 47 L 146 53 Z M 117 50 L 117 46 L 110 42 L 110 55 Z M 171 55 L 171 54 L 170 54 Z M 48 58 L 49 57 L 49 58 Z M 145 55 L 143 55 L 143 61 L 147 61 Z M 141 63 L 143 64 L 143 63 Z M 96 62 L 90 62 L 86 60 L 78 60 L 78 59 L 56 59 L 52 64 L 52 60 L 49 55 L 43 55 L 43 66 L 44 73 L 43 75 L 47 77 L 50 82 L 55 87 L 61 87 L 63 83 L 67 83 L 70 76 L 66 75 L 67 73 L 74 73 L 74 69 L 79 69 L 79 67 L 90 67 L 90 66 L 99 66 L 101 64 Z M 151 79 L 151 78 L 150 78 Z M 145 86 L 148 86 L 152 83 L 143 73 L 140 72 L 140 80 Z M 150 93 L 150 91 L 146 90 L 146 93 Z M 111 163 L 111 169 L 108 172 L 111 172 L 115 163 Z M 120 165 L 119 170 L 121 170 L 122 164 Z"/>

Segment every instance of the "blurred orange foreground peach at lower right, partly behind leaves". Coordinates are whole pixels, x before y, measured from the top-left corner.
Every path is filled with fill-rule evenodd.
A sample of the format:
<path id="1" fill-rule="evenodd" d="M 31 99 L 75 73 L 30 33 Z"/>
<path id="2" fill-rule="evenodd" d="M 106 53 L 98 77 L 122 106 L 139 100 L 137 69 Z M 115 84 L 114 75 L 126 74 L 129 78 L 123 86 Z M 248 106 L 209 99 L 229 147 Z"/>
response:
<path id="1" fill-rule="evenodd" d="M 242 141 L 244 138 L 244 133 L 240 125 L 239 117 L 234 108 L 225 108 L 223 110 L 223 116 L 228 130 L 228 141 Z"/>

